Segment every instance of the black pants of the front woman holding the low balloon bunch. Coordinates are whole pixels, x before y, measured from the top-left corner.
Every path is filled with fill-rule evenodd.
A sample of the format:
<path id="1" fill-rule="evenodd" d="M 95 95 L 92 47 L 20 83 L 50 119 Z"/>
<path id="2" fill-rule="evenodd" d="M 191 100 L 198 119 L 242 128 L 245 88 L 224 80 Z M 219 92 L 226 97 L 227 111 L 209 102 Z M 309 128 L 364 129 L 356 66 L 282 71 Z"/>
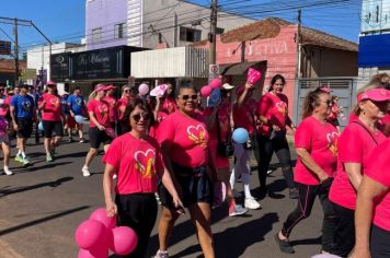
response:
<path id="1" fill-rule="evenodd" d="M 157 201 L 153 194 L 117 195 L 118 226 L 131 227 L 138 236 L 136 249 L 126 258 L 144 258 L 149 237 L 157 219 Z"/>

